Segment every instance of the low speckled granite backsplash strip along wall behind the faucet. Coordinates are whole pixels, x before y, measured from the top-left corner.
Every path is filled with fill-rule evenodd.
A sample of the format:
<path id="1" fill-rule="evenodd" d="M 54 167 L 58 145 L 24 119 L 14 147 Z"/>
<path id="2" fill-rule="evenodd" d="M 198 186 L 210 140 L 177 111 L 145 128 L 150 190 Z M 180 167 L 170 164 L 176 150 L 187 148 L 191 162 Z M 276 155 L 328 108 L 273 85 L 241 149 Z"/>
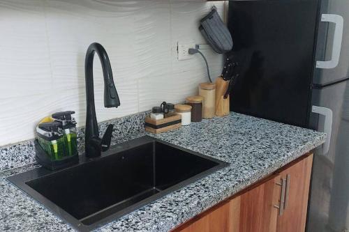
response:
<path id="1" fill-rule="evenodd" d="M 105 130 L 107 130 L 107 125 L 110 123 L 114 125 L 113 137 L 142 132 L 144 131 L 144 117 L 146 114 L 147 112 L 141 112 L 98 123 L 99 132 L 100 134 L 104 134 Z M 79 154 L 81 155 L 84 153 L 84 127 L 77 128 L 77 145 Z M 0 147 L 0 171 L 22 167 L 25 164 L 32 164 L 34 162 L 34 139 Z"/>

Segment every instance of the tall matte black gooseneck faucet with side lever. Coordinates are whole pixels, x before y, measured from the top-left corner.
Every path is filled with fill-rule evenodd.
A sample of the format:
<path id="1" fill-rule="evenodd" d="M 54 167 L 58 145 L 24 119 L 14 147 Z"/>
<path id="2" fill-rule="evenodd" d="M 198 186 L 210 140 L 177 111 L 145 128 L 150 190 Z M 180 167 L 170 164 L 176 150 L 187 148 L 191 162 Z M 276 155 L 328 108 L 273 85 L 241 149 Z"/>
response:
<path id="1" fill-rule="evenodd" d="M 109 57 L 102 45 L 97 42 L 89 45 L 85 57 L 85 82 L 86 82 L 86 128 L 85 128 L 85 155 L 87 157 L 98 157 L 102 150 L 107 150 L 110 146 L 112 136 L 112 125 L 108 126 L 103 139 L 99 137 L 96 109 L 94 105 L 94 54 L 98 54 L 101 60 L 104 77 L 104 106 L 119 107 L 120 100 L 112 78 L 112 67 Z"/>

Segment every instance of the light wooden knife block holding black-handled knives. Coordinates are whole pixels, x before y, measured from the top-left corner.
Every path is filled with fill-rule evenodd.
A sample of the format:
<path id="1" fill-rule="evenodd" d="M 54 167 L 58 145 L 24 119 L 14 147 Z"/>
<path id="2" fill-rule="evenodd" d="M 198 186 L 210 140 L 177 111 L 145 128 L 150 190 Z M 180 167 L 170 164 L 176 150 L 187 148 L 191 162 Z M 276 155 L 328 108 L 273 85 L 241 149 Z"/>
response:
<path id="1" fill-rule="evenodd" d="M 227 91 L 229 82 L 225 81 L 222 77 L 216 79 L 216 116 L 226 116 L 230 112 L 230 100 L 224 99 L 224 94 Z"/>

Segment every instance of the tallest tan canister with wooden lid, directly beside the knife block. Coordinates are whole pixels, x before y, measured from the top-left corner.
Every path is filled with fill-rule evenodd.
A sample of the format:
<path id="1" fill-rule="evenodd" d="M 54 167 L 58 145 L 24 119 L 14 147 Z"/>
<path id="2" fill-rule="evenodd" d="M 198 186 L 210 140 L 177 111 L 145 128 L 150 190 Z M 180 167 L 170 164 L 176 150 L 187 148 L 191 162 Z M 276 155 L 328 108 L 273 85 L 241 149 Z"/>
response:
<path id="1" fill-rule="evenodd" d="M 201 83 L 199 95 L 204 98 L 202 118 L 213 118 L 216 112 L 216 84 Z"/>

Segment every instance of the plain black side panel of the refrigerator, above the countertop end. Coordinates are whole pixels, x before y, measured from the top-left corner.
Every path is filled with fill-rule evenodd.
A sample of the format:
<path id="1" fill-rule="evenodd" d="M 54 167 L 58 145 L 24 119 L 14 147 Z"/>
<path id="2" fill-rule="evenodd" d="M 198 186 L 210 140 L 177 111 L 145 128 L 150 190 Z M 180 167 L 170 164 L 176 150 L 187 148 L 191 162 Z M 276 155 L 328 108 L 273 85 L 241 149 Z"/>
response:
<path id="1" fill-rule="evenodd" d="M 318 0 L 229 2 L 242 64 L 231 111 L 308 126 L 317 17 Z"/>

